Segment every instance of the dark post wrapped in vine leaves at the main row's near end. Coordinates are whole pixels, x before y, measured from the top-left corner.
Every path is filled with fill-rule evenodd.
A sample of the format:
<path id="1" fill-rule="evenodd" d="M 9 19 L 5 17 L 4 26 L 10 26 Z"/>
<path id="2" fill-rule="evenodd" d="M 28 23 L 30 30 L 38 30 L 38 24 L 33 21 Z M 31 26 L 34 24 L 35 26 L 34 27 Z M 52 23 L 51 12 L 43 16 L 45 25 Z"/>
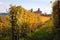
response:
<path id="1" fill-rule="evenodd" d="M 10 17 L 11 17 L 11 26 L 12 26 L 12 40 L 19 40 L 19 27 L 17 23 L 16 6 L 10 7 Z"/>

